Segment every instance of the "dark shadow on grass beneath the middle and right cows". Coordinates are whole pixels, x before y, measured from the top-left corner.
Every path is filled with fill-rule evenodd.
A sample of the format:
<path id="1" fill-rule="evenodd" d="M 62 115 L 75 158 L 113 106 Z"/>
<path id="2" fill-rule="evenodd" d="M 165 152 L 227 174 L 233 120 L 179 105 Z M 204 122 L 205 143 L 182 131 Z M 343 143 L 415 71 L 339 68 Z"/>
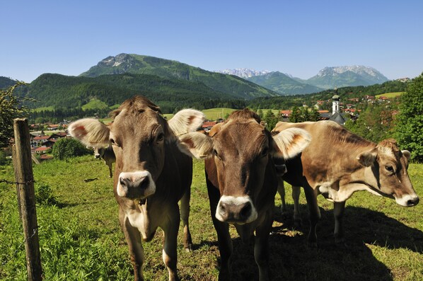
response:
<path id="1" fill-rule="evenodd" d="M 373 256 L 369 245 L 423 253 L 422 231 L 360 207 L 346 208 L 347 247 L 337 246 L 332 211 L 320 212 L 318 248 L 309 248 L 307 212 L 302 212 L 303 225 L 296 230 L 291 214 L 276 211 L 275 221 L 282 224 L 274 226 L 270 235 L 272 280 L 393 280 L 390 269 Z M 233 239 L 231 268 L 233 280 L 258 280 L 253 243 Z"/>

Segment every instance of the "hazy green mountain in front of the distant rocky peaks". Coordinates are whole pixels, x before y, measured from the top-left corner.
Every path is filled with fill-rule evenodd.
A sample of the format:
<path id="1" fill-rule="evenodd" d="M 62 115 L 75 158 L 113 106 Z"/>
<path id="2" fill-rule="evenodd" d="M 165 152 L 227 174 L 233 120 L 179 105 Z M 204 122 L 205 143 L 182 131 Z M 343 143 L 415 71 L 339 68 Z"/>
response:
<path id="1" fill-rule="evenodd" d="M 251 81 L 265 88 L 269 88 L 270 90 L 280 93 L 281 95 L 296 95 L 323 91 L 323 88 L 301 83 L 300 81 L 291 79 L 291 77 L 279 71 L 274 71 L 259 76 L 251 76 L 248 78 L 248 81 Z"/>

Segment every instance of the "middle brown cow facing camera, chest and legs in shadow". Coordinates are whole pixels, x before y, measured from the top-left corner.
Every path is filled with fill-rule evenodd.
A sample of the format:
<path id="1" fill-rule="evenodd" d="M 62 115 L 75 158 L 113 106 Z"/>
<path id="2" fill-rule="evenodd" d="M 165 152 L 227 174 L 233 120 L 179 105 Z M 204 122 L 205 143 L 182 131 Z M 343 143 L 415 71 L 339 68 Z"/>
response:
<path id="1" fill-rule="evenodd" d="M 271 136 L 252 111 L 234 111 L 209 135 L 190 133 L 182 145 L 205 161 L 212 220 L 221 253 L 219 280 L 230 277 L 233 224 L 243 241 L 255 233 L 254 256 L 260 280 L 269 280 L 268 237 L 272 229 L 277 171 L 272 157 L 290 158 L 310 142 L 304 130 L 290 129 Z"/>

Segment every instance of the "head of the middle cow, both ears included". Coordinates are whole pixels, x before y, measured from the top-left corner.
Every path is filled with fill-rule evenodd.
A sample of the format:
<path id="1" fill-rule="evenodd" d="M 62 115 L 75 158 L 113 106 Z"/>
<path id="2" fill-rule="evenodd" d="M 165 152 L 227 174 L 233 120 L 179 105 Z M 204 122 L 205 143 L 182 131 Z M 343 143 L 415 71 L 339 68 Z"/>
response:
<path id="1" fill-rule="evenodd" d="M 216 218 L 245 224 L 257 219 L 257 205 L 262 204 L 260 193 L 267 188 L 266 169 L 270 175 L 275 173 L 270 159 L 294 157 L 310 139 L 310 134 L 301 129 L 284 130 L 272 136 L 260 124 L 260 117 L 245 109 L 233 112 L 208 135 L 195 132 L 180 136 L 180 147 L 187 154 L 211 157 L 207 161 L 214 161 L 221 195 Z"/>

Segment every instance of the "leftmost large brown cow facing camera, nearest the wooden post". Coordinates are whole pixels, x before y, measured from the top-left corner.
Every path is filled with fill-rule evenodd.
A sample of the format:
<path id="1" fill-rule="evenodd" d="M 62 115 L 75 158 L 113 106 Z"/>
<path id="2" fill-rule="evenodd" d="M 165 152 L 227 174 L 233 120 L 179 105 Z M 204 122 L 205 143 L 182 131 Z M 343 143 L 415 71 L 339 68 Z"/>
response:
<path id="1" fill-rule="evenodd" d="M 116 156 L 115 198 L 134 265 L 134 280 L 144 280 L 141 240 L 151 241 L 159 226 L 164 231 L 163 262 L 169 280 L 178 280 L 176 242 L 180 217 L 185 249 L 192 246 L 188 227 L 192 159 L 180 152 L 176 136 L 200 127 L 204 114 L 181 110 L 166 122 L 156 105 L 135 96 L 113 111 L 112 117 L 110 127 L 95 119 L 82 119 L 72 123 L 69 132 L 91 147 L 112 143 Z"/>

